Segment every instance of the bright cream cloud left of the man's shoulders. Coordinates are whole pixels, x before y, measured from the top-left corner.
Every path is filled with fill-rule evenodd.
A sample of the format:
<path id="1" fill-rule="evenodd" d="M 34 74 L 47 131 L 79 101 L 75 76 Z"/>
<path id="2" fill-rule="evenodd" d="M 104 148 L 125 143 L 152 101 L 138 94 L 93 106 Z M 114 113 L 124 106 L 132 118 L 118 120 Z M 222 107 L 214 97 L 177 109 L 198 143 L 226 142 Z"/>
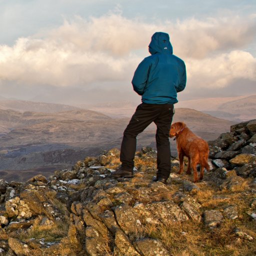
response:
<path id="1" fill-rule="evenodd" d="M 115 58 L 54 40 L 19 38 L 13 47 L 0 46 L 0 80 L 26 84 L 77 86 L 123 80 L 131 75 L 134 63 L 135 56 Z"/>

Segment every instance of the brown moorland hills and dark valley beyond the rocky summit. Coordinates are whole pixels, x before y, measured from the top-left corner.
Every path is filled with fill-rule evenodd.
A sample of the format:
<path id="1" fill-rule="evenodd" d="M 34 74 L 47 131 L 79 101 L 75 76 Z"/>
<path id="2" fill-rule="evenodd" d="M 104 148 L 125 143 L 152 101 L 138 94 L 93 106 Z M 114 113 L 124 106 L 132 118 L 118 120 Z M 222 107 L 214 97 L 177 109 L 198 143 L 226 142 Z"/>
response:
<path id="1" fill-rule="evenodd" d="M 128 121 L 129 118 L 111 118 L 86 109 L 55 113 L 1 109 L 0 170 L 43 168 L 52 171 L 54 167 L 70 167 L 71 160 L 74 163 L 82 155 L 96 155 L 105 149 L 119 148 Z M 188 108 L 177 108 L 173 121 L 185 121 L 205 139 L 216 138 L 233 124 Z M 175 142 L 171 141 L 171 144 L 175 151 Z M 155 148 L 154 124 L 138 136 L 138 149 L 145 145 Z"/>

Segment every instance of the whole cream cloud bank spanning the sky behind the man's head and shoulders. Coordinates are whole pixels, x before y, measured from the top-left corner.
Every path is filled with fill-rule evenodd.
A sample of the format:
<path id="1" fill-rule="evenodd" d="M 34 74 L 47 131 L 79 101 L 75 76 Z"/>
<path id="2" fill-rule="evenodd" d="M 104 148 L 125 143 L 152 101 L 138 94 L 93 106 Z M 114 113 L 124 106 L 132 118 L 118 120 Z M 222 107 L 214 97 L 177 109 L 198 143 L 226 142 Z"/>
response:
<path id="1" fill-rule="evenodd" d="M 243 50 L 256 33 L 255 17 L 195 18 L 149 23 L 108 13 L 64 20 L 54 29 L 0 45 L 0 82 L 84 86 L 129 83 L 148 54 L 155 31 L 170 33 L 174 53 L 186 62 L 191 88 L 227 86 L 234 79 L 256 80 L 255 58 Z"/>

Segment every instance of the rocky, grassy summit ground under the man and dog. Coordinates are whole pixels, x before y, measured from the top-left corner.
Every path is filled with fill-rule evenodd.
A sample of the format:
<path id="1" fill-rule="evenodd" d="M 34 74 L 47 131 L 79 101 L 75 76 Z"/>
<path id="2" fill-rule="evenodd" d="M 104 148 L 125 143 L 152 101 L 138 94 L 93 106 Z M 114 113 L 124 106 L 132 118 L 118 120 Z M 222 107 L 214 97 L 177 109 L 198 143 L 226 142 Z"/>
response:
<path id="1" fill-rule="evenodd" d="M 133 178 L 113 179 L 111 149 L 49 179 L 0 180 L 0 255 L 256 255 L 256 120 L 208 141 L 210 172 L 151 182 L 156 152 L 136 152 Z"/>

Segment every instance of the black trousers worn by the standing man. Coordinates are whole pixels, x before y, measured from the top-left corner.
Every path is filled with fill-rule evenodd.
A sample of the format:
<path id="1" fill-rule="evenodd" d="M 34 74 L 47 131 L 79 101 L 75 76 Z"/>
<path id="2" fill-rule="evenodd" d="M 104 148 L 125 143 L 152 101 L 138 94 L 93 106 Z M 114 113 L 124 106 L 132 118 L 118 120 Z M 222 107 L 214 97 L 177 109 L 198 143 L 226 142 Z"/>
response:
<path id="1" fill-rule="evenodd" d="M 170 174 L 169 130 L 174 114 L 173 104 L 146 104 L 137 106 L 129 124 L 123 132 L 120 161 L 124 170 L 132 171 L 136 151 L 136 136 L 151 122 L 157 126 L 155 139 L 157 148 L 157 177 L 168 178 Z"/>

